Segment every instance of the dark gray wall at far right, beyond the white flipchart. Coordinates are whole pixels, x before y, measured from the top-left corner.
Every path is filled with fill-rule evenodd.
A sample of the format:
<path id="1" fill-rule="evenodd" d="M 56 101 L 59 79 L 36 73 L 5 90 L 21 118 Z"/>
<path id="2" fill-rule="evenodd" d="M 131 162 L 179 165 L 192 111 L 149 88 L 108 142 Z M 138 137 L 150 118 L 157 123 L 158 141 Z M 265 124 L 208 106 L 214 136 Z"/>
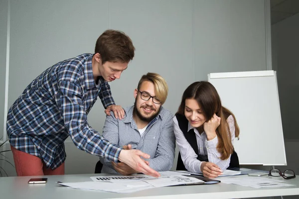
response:
<path id="1" fill-rule="evenodd" d="M 272 25 L 272 63 L 277 70 L 279 99 L 288 165 L 299 173 L 299 13 Z"/>

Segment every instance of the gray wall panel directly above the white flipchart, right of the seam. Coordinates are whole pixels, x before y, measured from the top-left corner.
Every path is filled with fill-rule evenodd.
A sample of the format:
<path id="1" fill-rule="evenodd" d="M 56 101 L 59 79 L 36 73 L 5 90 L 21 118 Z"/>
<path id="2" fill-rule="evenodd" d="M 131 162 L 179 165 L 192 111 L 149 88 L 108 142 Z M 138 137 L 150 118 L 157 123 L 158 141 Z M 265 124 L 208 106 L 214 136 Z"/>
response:
<path id="1" fill-rule="evenodd" d="M 207 74 L 266 70 L 263 0 L 195 0 L 195 80 Z"/>

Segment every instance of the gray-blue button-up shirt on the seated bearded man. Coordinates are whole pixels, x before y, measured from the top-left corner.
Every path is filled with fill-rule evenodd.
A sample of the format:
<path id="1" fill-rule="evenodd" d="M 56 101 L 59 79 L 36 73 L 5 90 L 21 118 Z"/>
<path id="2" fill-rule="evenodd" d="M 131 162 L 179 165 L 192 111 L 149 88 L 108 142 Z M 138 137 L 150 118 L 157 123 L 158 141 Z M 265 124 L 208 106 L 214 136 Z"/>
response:
<path id="1" fill-rule="evenodd" d="M 172 113 L 161 107 L 159 114 L 149 122 L 146 131 L 140 135 L 133 119 L 134 106 L 124 108 L 124 119 L 116 119 L 113 112 L 106 116 L 103 137 L 120 147 L 131 144 L 132 149 L 141 150 L 150 155 L 149 167 L 156 171 L 169 171 L 175 154 L 175 136 Z M 100 158 L 102 173 L 117 173 L 111 162 Z"/>

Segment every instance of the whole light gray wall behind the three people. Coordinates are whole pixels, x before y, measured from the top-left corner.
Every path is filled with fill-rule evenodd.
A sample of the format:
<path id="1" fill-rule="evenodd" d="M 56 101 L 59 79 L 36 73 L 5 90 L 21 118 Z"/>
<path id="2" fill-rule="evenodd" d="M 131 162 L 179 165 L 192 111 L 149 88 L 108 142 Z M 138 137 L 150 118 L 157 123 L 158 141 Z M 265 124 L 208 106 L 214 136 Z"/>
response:
<path id="1" fill-rule="evenodd" d="M 266 70 L 263 0 L 10 1 L 8 107 L 49 66 L 93 52 L 97 37 L 108 28 L 127 33 L 136 47 L 128 69 L 111 83 L 113 97 L 122 106 L 133 104 L 133 91 L 147 72 L 166 79 L 164 107 L 175 113 L 184 89 L 207 80 L 208 73 Z M 100 101 L 88 121 L 102 130 Z M 97 157 L 79 151 L 71 140 L 66 152 L 66 174 L 94 172 Z M 8 158 L 12 160 L 11 154 Z"/>

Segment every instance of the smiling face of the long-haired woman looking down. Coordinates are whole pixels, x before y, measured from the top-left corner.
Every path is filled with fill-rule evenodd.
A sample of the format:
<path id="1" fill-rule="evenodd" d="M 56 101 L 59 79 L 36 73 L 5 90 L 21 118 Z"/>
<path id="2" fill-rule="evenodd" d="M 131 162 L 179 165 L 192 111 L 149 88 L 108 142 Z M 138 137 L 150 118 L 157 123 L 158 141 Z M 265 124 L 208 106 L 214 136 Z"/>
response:
<path id="1" fill-rule="evenodd" d="M 206 121 L 202 110 L 200 109 L 197 101 L 194 99 L 185 100 L 184 114 L 191 126 L 194 128 L 200 127 Z"/>

